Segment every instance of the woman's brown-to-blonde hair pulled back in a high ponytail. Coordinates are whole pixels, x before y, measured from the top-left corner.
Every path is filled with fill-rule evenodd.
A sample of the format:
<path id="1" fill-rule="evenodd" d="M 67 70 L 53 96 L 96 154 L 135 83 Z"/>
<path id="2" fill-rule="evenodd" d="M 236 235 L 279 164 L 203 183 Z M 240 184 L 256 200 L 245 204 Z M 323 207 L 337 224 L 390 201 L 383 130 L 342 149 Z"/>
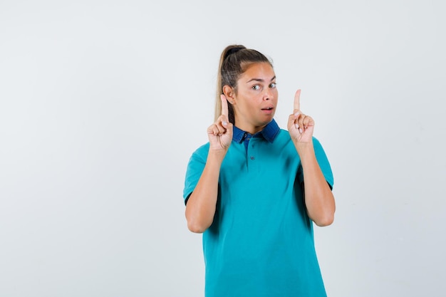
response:
<path id="1" fill-rule="evenodd" d="M 215 98 L 215 114 L 214 120 L 222 115 L 222 101 L 220 95 L 223 93 L 224 85 L 229 85 L 237 93 L 237 80 L 240 75 L 246 71 L 247 66 L 252 63 L 269 63 L 272 62 L 264 56 L 263 53 L 246 48 L 242 45 L 231 45 L 224 48 L 220 56 L 219 68 L 217 73 L 217 93 Z M 229 122 L 235 124 L 234 109 L 228 102 Z"/>

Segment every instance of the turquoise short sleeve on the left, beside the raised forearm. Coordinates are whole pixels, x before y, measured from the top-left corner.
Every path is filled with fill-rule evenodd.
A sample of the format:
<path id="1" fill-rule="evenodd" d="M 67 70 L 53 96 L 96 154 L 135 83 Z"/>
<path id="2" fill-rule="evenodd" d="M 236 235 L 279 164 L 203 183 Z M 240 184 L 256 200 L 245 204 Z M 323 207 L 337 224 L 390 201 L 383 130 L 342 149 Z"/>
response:
<path id="1" fill-rule="evenodd" d="M 185 199 L 185 204 L 190 194 L 194 191 L 197 186 L 198 180 L 202 175 L 204 170 L 204 165 L 206 165 L 207 152 L 209 145 L 203 145 L 196 150 L 190 157 L 189 163 L 187 164 L 186 177 L 185 177 L 185 188 L 183 190 L 183 198 Z"/>

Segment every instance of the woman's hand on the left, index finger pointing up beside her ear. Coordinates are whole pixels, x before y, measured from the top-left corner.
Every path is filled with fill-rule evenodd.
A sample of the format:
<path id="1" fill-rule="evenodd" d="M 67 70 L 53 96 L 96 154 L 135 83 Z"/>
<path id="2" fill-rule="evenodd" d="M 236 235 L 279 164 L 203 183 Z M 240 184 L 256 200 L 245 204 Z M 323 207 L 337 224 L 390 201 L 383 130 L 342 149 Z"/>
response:
<path id="1" fill-rule="evenodd" d="M 209 137 L 209 150 L 227 152 L 232 142 L 232 123 L 229 123 L 227 99 L 223 94 L 220 95 L 220 99 L 222 100 L 222 115 L 207 128 L 207 137 Z"/>

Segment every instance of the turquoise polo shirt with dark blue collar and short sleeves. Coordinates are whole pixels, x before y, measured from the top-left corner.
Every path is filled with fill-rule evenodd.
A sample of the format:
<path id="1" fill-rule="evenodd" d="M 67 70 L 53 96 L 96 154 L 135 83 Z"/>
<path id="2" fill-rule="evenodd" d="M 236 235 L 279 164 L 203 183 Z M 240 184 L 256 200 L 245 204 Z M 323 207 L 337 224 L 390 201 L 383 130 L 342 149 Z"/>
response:
<path id="1" fill-rule="evenodd" d="M 313 137 L 326 181 L 333 174 Z M 202 174 L 209 143 L 190 157 L 185 201 Z M 273 120 L 256 135 L 234 127 L 219 174 L 214 221 L 202 234 L 206 297 L 326 296 L 302 195 L 301 160 Z"/>

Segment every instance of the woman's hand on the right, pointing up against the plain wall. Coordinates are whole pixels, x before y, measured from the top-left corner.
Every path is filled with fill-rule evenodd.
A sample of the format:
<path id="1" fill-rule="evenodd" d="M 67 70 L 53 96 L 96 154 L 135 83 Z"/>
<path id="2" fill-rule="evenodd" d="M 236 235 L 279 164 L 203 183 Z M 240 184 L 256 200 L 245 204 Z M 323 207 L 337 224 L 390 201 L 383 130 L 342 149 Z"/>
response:
<path id="1" fill-rule="evenodd" d="M 294 111 L 288 118 L 289 135 L 296 145 L 313 142 L 314 120 L 301 112 L 300 97 L 299 89 L 294 95 Z"/>

